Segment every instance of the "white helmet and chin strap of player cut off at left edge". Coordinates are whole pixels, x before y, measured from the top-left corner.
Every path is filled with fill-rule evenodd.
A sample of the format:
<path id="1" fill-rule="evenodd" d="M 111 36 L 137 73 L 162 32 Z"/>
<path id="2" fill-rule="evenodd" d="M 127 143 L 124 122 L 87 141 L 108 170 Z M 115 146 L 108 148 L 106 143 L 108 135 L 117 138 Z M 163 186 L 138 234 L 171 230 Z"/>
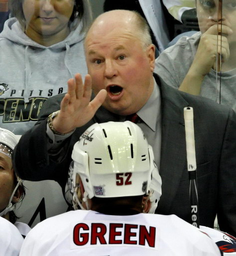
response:
<path id="1" fill-rule="evenodd" d="M 11 157 L 13 149 L 17 143 L 18 143 L 18 138 L 13 132 L 4 128 L 0 128 L 0 153 L 3 153 Z M 18 186 L 21 185 L 22 183 L 22 180 L 17 176 L 16 176 L 16 179 L 17 179 L 17 184 L 9 198 L 7 206 L 5 207 L 4 210 L 0 212 L 0 216 L 5 215 L 7 212 L 13 210 L 16 206 L 16 204 L 12 204 L 11 200 Z"/>

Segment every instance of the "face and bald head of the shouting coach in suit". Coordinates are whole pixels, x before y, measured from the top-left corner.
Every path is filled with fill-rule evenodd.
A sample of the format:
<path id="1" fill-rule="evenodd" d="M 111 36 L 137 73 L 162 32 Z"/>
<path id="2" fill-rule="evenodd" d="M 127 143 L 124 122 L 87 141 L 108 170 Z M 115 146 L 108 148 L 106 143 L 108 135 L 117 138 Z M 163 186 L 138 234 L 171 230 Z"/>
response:
<path id="1" fill-rule="evenodd" d="M 85 40 L 93 91 L 97 94 L 105 88 L 108 93 L 103 106 L 120 115 L 137 112 L 153 91 L 155 47 L 143 46 L 132 15 L 126 11 L 104 13 Z"/>

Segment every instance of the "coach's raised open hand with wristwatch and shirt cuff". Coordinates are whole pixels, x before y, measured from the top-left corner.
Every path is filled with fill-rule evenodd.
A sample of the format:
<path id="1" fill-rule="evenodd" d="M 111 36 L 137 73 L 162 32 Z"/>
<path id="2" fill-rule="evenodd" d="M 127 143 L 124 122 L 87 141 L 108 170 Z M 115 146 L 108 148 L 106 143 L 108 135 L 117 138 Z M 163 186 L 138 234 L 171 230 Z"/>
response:
<path id="1" fill-rule="evenodd" d="M 89 75 L 85 76 L 84 84 L 80 74 L 68 80 L 68 91 L 61 100 L 60 111 L 50 114 L 49 116 L 54 117 L 47 120 L 47 149 L 50 154 L 55 155 L 57 151 L 59 152 L 63 141 L 73 133 L 75 128 L 84 125 L 93 117 L 105 99 L 105 95 L 106 92 L 102 90 L 89 102 L 91 98 L 91 77 Z"/>

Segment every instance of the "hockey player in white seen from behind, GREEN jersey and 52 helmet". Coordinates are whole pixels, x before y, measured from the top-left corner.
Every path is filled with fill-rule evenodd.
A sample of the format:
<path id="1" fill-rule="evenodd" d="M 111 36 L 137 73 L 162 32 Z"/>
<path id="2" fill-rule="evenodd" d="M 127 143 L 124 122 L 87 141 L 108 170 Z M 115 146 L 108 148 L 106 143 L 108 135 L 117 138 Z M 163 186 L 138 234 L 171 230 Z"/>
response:
<path id="1" fill-rule="evenodd" d="M 74 207 L 37 224 L 20 256 L 220 255 L 213 240 L 176 215 L 153 212 L 161 179 L 136 124 L 95 123 L 75 143 L 69 171 Z"/>

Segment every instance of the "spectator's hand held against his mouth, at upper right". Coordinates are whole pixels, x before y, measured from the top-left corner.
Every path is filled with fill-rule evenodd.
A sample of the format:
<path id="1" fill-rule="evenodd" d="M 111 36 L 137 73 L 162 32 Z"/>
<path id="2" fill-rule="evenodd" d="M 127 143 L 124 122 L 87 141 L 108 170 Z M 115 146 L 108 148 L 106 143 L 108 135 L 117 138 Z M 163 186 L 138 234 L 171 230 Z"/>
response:
<path id="1" fill-rule="evenodd" d="M 232 34 L 233 30 L 226 25 L 222 25 L 221 35 L 218 35 L 220 25 L 211 26 L 202 34 L 191 71 L 205 76 L 211 68 L 217 69 L 216 59 L 222 53 L 222 63 L 226 62 L 230 56 L 230 47 L 227 35 Z"/>

